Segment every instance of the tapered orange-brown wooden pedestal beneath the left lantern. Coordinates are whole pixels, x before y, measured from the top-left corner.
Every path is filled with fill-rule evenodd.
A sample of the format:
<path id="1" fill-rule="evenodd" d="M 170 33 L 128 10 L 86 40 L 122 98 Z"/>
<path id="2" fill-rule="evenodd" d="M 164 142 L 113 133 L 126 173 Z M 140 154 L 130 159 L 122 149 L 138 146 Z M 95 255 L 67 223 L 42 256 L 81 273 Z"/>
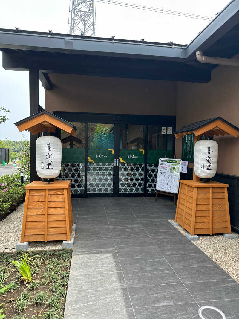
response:
<path id="1" fill-rule="evenodd" d="M 34 181 L 25 186 L 26 197 L 21 243 L 70 241 L 73 226 L 70 181 L 50 184 Z"/>

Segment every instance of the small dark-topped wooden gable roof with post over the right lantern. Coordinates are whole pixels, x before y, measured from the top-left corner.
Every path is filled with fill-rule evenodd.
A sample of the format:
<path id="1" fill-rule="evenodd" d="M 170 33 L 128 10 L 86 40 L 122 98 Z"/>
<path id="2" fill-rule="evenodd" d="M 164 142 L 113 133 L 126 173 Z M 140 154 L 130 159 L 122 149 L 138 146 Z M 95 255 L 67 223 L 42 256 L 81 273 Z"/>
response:
<path id="1" fill-rule="evenodd" d="M 214 117 L 208 120 L 194 122 L 192 124 L 183 126 L 181 129 L 173 132 L 176 138 L 179 138 L 185 134 L 194 133 L 194 145 L 200 140 L 201 136 L 219 136 L 219 135 L 232 135 L 237 137 L 239 128 L 230 122 L 224 120 L 220 116 Z M 199 181 L 199 177 L 195 175 L 193 169 L 193 181 Z"/>

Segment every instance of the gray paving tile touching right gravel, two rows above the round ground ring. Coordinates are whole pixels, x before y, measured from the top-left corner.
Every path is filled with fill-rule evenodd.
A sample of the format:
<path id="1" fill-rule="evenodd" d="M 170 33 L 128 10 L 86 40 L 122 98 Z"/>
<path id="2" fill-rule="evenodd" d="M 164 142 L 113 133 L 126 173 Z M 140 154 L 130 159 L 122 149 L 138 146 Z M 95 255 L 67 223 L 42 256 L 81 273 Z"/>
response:
<path id="1" fill-rule="evenodd" d="M 218 265 L 198 267 L 173 268 L 183 283 L 194 281 L 207 281 L 218 279 L 231 279 L 231 277 Z"/>

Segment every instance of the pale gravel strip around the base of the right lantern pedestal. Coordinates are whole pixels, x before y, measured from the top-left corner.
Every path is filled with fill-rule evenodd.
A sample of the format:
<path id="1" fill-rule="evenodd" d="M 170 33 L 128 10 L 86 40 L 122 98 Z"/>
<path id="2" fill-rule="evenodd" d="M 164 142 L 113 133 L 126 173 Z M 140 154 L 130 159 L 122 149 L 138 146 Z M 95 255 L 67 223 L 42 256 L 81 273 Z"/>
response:
<path id="1" fill-rule="evenodd" d="M 171 221 L 171 220 L 169 220 Z M 175 226 L 186 236 L 188 232 L 181 226 Z M 220 235 L 198 235 L 198 241 L 192 241 L 199 249 L 225 270 L 239 283 L 239 234 L 235 239 Z"/>

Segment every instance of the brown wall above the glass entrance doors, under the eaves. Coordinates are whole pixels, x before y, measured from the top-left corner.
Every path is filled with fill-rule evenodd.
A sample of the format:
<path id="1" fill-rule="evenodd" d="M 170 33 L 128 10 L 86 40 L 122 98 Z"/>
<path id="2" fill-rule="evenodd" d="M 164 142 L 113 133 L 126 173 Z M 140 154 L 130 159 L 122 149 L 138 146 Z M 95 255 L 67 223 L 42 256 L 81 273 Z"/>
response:
<path id="1" fill-rule="evenodd" d="M 49 76 L 54 88 L 45 90 L 45 108 L 51 113 L 176 115 L 177 82 L 56 73 Z"/>

